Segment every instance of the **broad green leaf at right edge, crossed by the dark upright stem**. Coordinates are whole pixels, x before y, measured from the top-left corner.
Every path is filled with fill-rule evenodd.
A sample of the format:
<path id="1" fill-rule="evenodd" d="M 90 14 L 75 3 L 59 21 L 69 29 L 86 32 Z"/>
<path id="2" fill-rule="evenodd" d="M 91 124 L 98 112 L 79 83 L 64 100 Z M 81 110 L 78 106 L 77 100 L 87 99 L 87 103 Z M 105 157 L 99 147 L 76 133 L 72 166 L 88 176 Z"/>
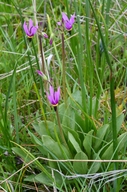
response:
<path id="1" fill-rule="evenodd" d="M 118 141 L 118 152 L 121 151 L 124 146 L 125 143 L 127 142 L 127 133 L 123 133 L 122 135 L 120 135 L 117 139 Z M 103 153 L 101 159 L 111 159 L 113 156 L 113 143 L 111 143 L 109 145 L 109 147 L 106 149 L 106 151 Z"/>

